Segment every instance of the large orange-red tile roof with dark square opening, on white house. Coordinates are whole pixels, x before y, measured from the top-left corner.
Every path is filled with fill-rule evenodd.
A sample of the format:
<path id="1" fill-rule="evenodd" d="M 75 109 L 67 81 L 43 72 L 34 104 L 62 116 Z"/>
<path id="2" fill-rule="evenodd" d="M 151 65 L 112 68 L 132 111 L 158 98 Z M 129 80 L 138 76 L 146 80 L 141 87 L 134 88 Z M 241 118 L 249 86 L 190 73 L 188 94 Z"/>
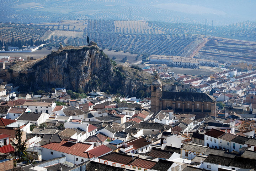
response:
<path id="1" fill-rule="evenodd" d="M 63 140 L 61 142 L 48 143 L 40 147 L 90 159 L 94 157 L 94 155 L 86 151 L 91 146 L 93 145 L 87 144 L 87 143 L 81 143 L 81 142 L 72 143 L 72 142 L 68 142 L 68 140 Z"/>

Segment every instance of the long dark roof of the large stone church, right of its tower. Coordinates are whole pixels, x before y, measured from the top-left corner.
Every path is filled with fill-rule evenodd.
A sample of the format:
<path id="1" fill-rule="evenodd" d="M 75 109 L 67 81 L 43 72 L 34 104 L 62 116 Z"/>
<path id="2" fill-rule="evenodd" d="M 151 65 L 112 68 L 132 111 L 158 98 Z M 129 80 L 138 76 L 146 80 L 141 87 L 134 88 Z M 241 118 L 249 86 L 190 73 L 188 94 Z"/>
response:
<path id="1" fill-rule="evenodd" d="M 196 102 L 215 102 L 215 98 L 206 93 L 196 92 L 170 92 L 162 91 L 162 99 L 176 101 L 196 101 Z"/>

